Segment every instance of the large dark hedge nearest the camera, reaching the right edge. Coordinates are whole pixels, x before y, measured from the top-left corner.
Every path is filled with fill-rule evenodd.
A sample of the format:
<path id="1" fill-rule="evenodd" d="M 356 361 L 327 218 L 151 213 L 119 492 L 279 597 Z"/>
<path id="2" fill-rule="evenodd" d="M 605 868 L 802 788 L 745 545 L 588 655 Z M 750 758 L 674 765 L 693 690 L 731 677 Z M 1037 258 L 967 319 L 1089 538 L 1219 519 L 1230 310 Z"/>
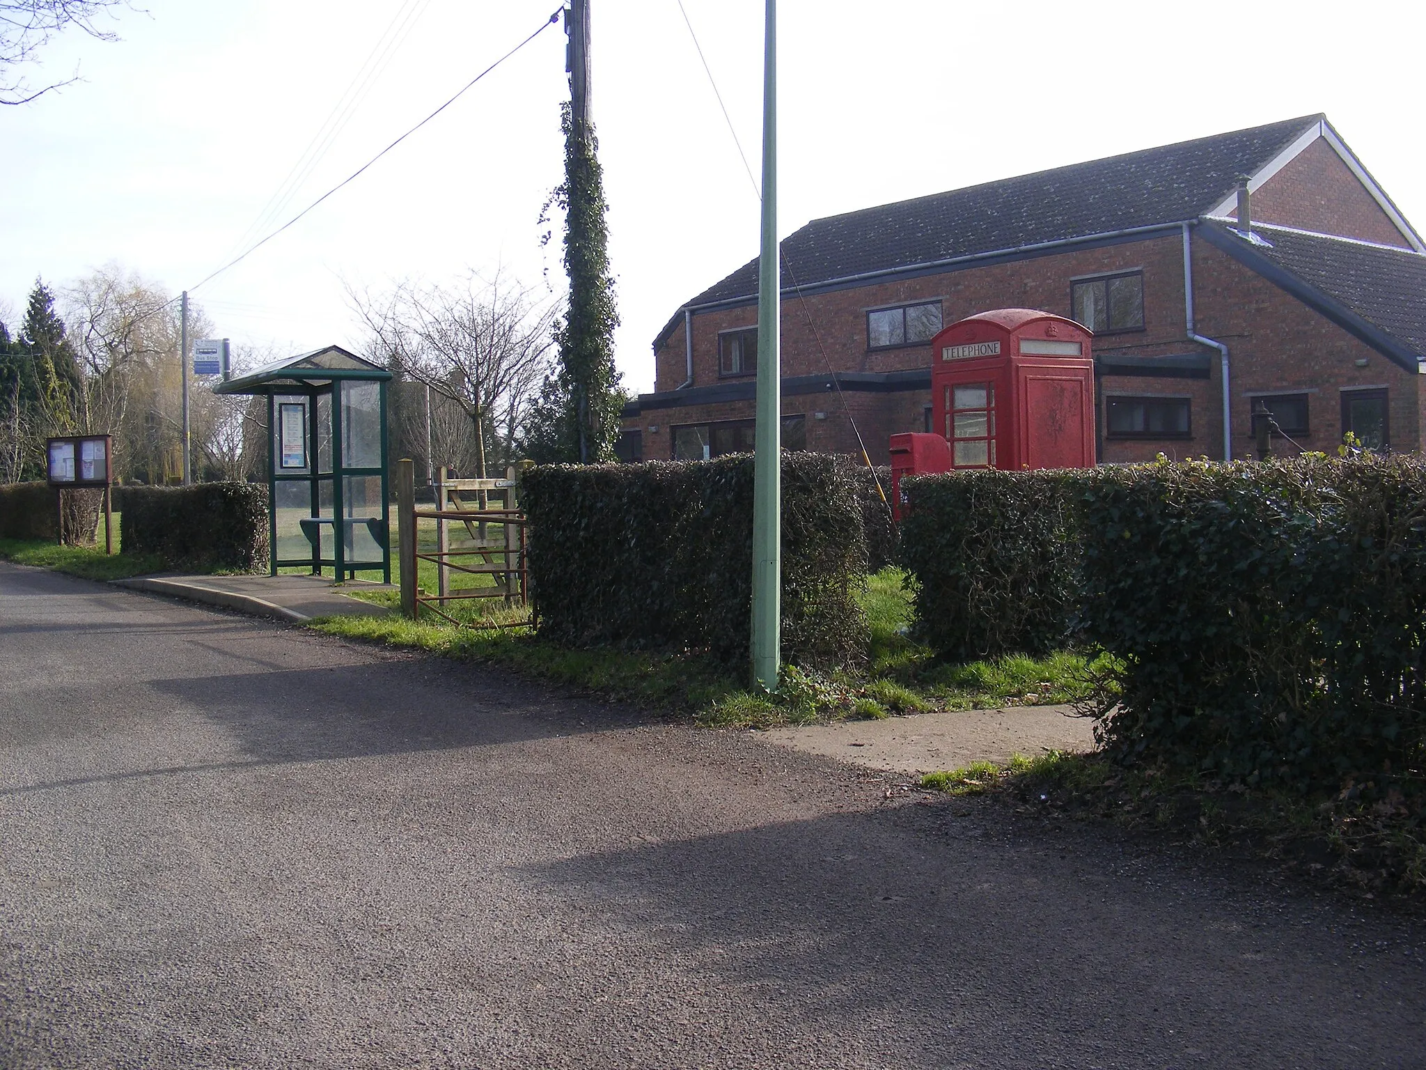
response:
<path id="1" fill-rule="evenodd" d="M 1082 633 L 1124 662 L 1111 748 L 1246 783 L 1422 783 L 1419 458 L 1107 469 L 1079 505 Z"/>

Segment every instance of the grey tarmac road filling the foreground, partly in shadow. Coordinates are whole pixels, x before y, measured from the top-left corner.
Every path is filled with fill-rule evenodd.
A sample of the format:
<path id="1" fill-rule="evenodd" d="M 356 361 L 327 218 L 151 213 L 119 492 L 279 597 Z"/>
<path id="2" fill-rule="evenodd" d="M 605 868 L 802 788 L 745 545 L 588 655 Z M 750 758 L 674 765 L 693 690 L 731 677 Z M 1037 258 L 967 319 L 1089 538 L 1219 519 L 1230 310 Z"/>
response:
<path id="1" fill-rule="evenodd" d="M 1422 1067 L 1420 926 L 0 565 L 0 1066 Z"/>

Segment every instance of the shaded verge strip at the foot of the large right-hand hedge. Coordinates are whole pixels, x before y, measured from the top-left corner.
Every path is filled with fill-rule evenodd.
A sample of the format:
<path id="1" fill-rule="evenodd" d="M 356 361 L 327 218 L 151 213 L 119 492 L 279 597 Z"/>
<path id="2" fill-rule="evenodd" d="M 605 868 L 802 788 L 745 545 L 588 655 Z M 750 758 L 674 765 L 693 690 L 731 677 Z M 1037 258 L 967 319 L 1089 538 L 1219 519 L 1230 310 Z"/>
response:
<path id="1" fill-rule="evenodd" d="M 1423 799 L 1363 800 L 1352 788 L 1316 796 L 1125 766 L 1102 753 L 1048 752 L 1008 765 L 927 773 L 948 795 L 998 795 L 1021 810 L 1107 820 L 1256 857 L 1313 883 L 1426 902 Z"/>

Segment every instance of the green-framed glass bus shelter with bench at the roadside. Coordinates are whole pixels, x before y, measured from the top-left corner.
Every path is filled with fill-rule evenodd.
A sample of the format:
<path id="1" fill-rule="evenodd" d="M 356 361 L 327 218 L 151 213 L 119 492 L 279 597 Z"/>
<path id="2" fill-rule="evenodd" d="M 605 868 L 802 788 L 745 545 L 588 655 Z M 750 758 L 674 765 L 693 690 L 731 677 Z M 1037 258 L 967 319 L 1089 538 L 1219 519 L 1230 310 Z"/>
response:
<path id="1" fill-rule="evenodd" d="M 271 572 L 324 568 L 391 582 L 386 384 L 391 372 L 338 345 L 258 368 L 215 394 L 267 398 Z"/>

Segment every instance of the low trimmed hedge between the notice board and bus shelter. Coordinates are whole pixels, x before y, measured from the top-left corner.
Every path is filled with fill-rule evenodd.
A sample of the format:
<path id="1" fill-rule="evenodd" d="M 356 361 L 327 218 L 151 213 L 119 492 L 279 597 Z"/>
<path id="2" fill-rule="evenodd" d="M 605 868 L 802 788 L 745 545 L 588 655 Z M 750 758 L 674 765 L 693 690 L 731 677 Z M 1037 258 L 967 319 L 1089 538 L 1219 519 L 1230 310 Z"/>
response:
<path id="1" fill-rule="evenodd" d="M 116 494 L 124 554 L 175 568 L 255 572 L 268 564 L 267 486 L 241 482 L 124 486 Z"/>

